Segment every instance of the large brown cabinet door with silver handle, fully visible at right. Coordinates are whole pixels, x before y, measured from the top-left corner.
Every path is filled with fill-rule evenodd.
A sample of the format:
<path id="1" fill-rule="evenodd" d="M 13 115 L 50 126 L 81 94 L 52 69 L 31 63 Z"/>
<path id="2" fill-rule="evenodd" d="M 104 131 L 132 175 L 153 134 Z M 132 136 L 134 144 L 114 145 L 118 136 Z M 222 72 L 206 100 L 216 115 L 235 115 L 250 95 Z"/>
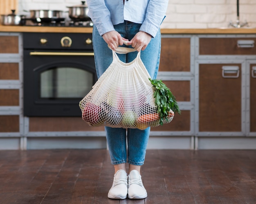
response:
<path id="1" fill-rule="evenodd" d="M 223 75 L 223 66 L 237 73 Z M 231 77 L 231 78 L 226 78 Z M 199 65 L 199 132 L 241 132 L 241 65 Z"/>

